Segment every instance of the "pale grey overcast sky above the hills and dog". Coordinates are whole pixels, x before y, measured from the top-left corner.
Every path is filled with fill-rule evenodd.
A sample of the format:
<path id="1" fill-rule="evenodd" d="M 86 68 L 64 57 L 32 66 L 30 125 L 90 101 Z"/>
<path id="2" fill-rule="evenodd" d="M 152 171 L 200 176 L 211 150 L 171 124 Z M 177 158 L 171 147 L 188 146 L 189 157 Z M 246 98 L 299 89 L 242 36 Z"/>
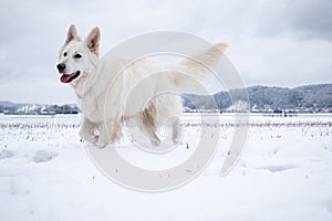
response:
<path id="1" fill-rule="evenodd" d="M 331 0 L 1 0 L 0 101 L 75 103 L 55 64 L 70 24 L 102 30 L 102 53 L 169 30 L 227 42 L 245 85 L 332 83 Z"/>

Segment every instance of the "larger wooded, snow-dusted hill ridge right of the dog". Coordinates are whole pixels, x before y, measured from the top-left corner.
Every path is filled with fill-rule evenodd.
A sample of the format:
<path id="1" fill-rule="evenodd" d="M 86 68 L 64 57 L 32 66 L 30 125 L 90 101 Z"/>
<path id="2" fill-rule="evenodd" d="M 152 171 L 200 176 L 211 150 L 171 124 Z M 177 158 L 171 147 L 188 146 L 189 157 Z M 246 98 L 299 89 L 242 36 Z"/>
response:
<path id="1" fill-rule="evenodd" d="M 332 112 L 332 84 L 307 85 L 294 88 L 250 86 L 247 87 L 251 112 Z M 229 96 L 231 93 L 234 101 Z M 230 92 L 219 92 L 212 95 L 214 101 L 208 96 L 186 94 L 188 99 L 184 105 L 190 109 L 211 109 L 218 108 L 222 112 L 234 110 L 232 106 L 245 101 L 240 95 L 240 90 Z M 239 94 L 239 96 L 237 95 Z"/>

